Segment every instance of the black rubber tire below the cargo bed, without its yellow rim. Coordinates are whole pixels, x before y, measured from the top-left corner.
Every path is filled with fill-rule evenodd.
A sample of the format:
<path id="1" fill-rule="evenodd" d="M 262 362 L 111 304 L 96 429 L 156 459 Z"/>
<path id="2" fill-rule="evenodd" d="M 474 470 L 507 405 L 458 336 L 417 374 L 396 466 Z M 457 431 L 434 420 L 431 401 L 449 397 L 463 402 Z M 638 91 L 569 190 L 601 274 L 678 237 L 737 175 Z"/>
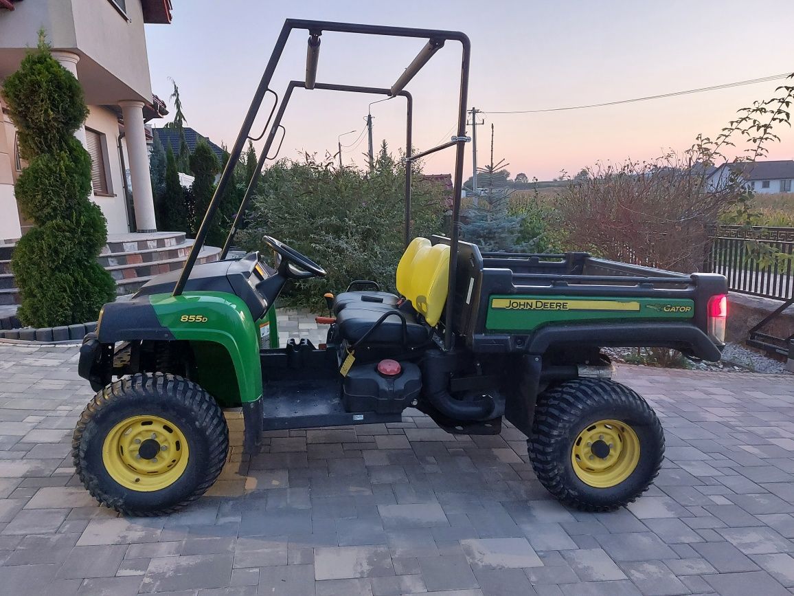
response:
<path id="1" fill-rule="evenodd" d="M 640 444 L 628 478 L 609 488 L 583 482 L 571 461 L 576 437 L 597 420 L 630 426 Z M 533 433 L 527 440 L 538 480 L 565 505 L 581 511 L 614 511 L 648 490 L 665 455 L 665 433 L 653 409 L 625 385 L 606 379 L 576 379 L 538 396 Z"/>

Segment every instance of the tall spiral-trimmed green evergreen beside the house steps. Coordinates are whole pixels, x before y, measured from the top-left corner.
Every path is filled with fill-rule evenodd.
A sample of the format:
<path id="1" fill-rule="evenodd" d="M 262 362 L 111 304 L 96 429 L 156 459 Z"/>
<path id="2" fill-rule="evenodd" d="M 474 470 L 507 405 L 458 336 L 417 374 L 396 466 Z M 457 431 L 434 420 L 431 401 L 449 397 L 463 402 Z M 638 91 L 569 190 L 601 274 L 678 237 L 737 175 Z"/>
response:
<path id="1" fill-rule="evenodd" d="M 91 195 L 91 157 L 75 138 L 88 109 L 75 76 L 44 43 L 2 87 L 28 167 L 15 187 L 22 215 L 35 226 L 13 251 L 20 288 L 17 316 L 33 327 L 94 321 L 114 300 L 115 283 L 97 262 L 107 241 Z"/>

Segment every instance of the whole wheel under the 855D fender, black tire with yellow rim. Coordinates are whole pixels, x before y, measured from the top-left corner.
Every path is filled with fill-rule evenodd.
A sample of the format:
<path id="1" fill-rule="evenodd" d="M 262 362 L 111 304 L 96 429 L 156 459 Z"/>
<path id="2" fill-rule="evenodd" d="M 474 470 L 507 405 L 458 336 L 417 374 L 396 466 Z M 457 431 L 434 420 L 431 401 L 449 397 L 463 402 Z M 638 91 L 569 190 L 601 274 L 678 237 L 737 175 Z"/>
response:
<path id="1" fill-rule="evenodd" d="M 94 396 L 71 448 L 97 501 L 128 516 L 156 516 L 210 488 L 229 451 L 229 429 L 214 398 L 192 381 L 138 373 Z"/>

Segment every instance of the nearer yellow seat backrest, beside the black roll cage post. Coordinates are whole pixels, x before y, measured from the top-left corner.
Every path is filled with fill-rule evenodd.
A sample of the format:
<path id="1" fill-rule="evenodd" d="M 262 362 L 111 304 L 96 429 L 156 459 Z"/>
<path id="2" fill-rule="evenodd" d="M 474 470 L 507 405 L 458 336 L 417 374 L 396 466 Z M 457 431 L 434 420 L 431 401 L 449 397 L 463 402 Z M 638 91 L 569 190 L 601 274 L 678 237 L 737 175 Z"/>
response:
<path id="1" fill-rule="evenodd" d="M 441 319 L 447 298 L 449 281 L 449 246 L 424 246 L 411 262 L 408 292 L 403 292 L 416 312 L 421 313 L 430 327 Z"/>

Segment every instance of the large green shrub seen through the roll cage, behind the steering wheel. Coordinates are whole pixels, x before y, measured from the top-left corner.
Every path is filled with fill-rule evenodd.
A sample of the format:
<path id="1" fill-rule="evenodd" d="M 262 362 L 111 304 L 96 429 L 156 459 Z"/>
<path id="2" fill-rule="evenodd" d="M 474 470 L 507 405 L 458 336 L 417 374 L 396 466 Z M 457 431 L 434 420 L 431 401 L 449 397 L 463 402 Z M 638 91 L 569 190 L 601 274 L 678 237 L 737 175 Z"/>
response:
<path id="1" fill-rule="evenodd" d="M 428 236 L 441 231 L 445 190 L 419 180 L 420 173 L 414 174 L 412 235 Z M 394 290 L 404 250 L 404 184 L 403 164 L 386 152 L 372 174 L 310 156 L 279 161 L 264 172 L 237 240 L 246 250 L 263 250 L 262 236 L 271 235 L 328 271 L 324 279 L 296 283 L 284 296 L 289 304 L 319 312 L 324 292 L 343 292 L 353 280 Z"/>

